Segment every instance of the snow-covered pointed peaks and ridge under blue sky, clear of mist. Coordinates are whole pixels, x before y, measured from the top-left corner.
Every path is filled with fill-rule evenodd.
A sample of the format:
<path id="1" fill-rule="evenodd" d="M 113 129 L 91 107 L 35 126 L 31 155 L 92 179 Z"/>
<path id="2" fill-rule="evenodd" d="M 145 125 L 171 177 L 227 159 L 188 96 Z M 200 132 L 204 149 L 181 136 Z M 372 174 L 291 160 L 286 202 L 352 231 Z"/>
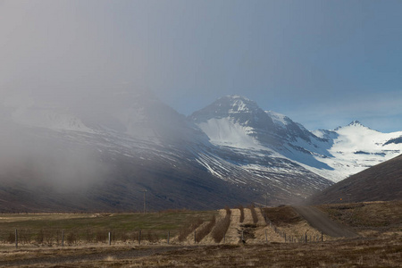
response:
<path id="1" fill-rule="evenodd" d="M 264 112 L 242 96 L 224 96 L 191 119 L 218 146 L 266 150 L 324 178 L 339 181 L 402 151 L 402 133 L 381 133 L 352 121 L 314 132 L 288 116 Z"/>

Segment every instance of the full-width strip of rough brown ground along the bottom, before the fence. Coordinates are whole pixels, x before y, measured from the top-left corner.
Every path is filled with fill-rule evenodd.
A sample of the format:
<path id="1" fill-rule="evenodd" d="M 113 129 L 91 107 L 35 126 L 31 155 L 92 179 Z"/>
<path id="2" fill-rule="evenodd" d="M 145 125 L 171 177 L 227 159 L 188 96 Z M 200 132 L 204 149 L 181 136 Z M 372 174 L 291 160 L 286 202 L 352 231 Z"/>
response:
<path id="1" fill-rule="evenodd" d="M 262 245 L 34 249 L 2 255 L 2 267 L 400 267 L 402 239 Z"/>

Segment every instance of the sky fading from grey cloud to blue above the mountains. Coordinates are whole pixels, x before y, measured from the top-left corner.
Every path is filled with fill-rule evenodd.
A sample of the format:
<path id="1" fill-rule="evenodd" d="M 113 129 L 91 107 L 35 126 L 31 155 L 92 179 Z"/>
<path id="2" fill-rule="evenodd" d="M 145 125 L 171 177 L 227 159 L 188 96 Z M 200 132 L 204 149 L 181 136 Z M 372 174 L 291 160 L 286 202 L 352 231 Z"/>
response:
<path id="1" fill-rule="evenodd" d="M 0 97 L 241 95 L 309 130 L 402 130 L 402 1 L 4 1 Z M 88 104 L 89 105 L 89 104 Z"/>

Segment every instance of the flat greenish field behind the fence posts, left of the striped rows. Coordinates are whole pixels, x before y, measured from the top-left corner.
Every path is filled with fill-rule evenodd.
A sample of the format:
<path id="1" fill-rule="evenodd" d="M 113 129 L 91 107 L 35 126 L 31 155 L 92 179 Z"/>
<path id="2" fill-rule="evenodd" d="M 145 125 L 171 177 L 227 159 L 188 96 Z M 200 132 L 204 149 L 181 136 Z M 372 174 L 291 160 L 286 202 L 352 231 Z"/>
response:
<path id="1" fill-rule="evenodd" d="M 0 242 L 13 243 L 18 230 L 19 244 L 57 246 L 106 242 L 108 232 L 113 242 L 143 240 L 157 242 L 172 237 L 196 219 L 209 221 L 217 211 L 166 211 L 149 214 L 0 214 Z"/>

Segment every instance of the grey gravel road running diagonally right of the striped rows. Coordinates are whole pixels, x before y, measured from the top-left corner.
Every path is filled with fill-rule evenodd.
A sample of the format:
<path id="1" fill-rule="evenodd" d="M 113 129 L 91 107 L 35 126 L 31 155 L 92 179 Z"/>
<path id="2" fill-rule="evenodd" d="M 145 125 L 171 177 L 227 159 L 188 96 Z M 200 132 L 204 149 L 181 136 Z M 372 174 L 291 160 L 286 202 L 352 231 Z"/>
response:
<path id="1" fill-rule="evenodd" d="M 357 235 L 348 227 L 333 222 L 326 214 L 314 206 L 293 206 L 297 214 L 317 230 L 321 230 L 333 238 L 356 238 Z"/>

